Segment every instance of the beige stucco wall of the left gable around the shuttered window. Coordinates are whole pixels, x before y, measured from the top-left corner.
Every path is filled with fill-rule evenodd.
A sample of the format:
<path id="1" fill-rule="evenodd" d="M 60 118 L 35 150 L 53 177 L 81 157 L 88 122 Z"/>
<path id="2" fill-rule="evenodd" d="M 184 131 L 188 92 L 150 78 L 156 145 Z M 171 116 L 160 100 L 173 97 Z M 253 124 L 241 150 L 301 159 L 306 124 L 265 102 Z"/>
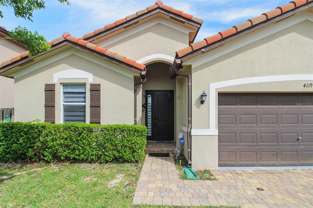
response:
<path id="1" fill-rule="evenodd" d="M 74 53 L 60 60 L 45 60 L 46 65 L 15 80 L 16 121 L 26 122 L 34 119 L 44 121 L 45 83 L 54 83 L 53 75 L 55 73 L 78 69 L 92 74 L 92 83 L 101 84 L 101 124 L 133 124 L 134 72 L 130 72 L 115 64 L 101 61 L 83 52 L 71 51 Z M 86 59 L 82 58 L 84 55 L 86 55 Z M 47 63 L 49 61 L 51 62 Z M 95 62 L 99 62 L 99 64 Z M 36 67 L 36 65 L 32 67 Z M 114 67 L 121 72 L 125 72 L 125 74 L 112 70 Z M 75 78 L 75 75 L 72 78 Z M 89 106 L 88 89 L 90 83 L 88 83 L 88 79 L 58 79 L 58 82 L 55 83 L 57 123 L 61 123 L 62 83 L 86 83 L 87 109 Z M 86 111 L 86 114 L 86 122 L 89 123 L 89 110 Z"/>

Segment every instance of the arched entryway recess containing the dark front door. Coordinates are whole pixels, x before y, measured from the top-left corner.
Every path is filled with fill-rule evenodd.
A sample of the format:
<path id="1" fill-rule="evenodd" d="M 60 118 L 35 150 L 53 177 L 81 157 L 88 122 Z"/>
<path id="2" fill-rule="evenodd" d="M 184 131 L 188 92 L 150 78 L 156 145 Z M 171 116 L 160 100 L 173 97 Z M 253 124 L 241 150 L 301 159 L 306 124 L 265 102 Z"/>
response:
<path id="1" fill-rule="evenodd" d="M 174 141 L 175 80 L 169 78 L 170 65 L 146 65 L 147 81 L 142 85 L 142 124 L 148 128 L 148 141 Z"/>

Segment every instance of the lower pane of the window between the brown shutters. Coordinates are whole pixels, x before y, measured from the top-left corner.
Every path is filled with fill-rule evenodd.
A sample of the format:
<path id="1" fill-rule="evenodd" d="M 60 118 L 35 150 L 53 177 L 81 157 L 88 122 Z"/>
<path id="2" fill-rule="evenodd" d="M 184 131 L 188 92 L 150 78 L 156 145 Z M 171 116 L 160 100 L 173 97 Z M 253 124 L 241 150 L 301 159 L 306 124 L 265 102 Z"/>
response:
<path id="1" fill-rule="evenodd" d="M 85 123 L 86 107 L 85 105 L 64 105 L 64 123 Z"/>

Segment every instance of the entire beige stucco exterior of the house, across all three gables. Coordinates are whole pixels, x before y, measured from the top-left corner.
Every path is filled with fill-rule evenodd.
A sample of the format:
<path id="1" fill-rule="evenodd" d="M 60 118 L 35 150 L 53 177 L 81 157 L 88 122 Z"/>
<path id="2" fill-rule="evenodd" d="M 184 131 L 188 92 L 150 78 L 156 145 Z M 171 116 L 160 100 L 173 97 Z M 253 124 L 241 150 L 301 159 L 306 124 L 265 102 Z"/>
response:
<path id="1" fill-rule="evenodd" d="M 193 169 L 216 169 L 219 93 L 312 92 L 312 88 L 303 87 L 304 83 L 313 82 L 312 9 L 268 23 L 253 32 L 247 28 L 245 35 L 231 36 L 225 43 L 221 40 L 216 47 L 215 43 L 212 48 L 206 45 L 210 49 L 202 53 L 193 50 L 187 54 L 192 58 L 183 57 L 186 60 L 179 67 L 180 72 L 191 75 L 192 126 L 188 147 L 188 79 L 176 76 L 171 80 L 169 68 L 176 62 L 175 52 L 188 46 L 189 34 L 196 33 L 197 28 L 170 17 L 161 18 L 164 16 L 134 22 L 92 42 L 146 65 L 149 77 L 137 85 L 135 95 L 135 83 L 144 81 L 140 73 L 123 67 L 125 63 L 110 62 L 96 56 L 95 51 L 87 52 L 90 48 L 79 49 L 81 45 L 73 47 L 75 44 L 71 43 L 13 67 L 11 74 L 4 72 L 15 80 L 15 121 L 45 120 L 46 83 L 54 83 L 56 87 L 55 123 L 63 122 L 62 84 L 65 83 L 86 84 L 86 123 L 90 120 L 90 84 L 101 84 L 101 124 L 134 124 L 135 117 L 136 124 L 145 125 L 142 108 L 145 92 L 173 90 L 176 146 L 183 149 L 186 157 L 188 148 L 192 149 Z M 201 54 L 193 56 L 193 52 Z M 208 96 L 201 104 L 203 91 Z M 184 131 L 184 146 L 179 144 L 179 131 Z"/>

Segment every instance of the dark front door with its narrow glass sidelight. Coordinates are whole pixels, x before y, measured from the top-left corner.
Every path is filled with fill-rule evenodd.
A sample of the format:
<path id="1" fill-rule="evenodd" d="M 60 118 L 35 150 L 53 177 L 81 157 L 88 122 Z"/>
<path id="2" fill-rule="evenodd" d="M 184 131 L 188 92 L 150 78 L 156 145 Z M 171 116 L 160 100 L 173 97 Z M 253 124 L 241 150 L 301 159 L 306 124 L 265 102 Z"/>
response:
<path id="1" fill-rule="evenodd" d="M 150 141 L 174 141 L 174 92 L 146 91 L 146 126 Z"/>

